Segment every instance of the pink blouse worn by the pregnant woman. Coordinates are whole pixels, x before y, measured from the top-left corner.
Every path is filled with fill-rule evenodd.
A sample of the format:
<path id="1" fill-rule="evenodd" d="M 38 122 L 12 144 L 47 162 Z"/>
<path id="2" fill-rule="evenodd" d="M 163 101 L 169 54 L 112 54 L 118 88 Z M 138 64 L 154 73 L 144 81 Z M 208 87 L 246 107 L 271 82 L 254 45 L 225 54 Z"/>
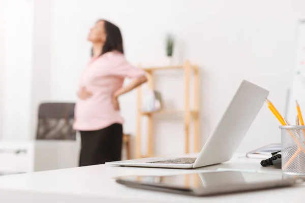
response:
<path id="1" fill-rule="evenodd" d="M 112 106 L 112 95 L 123 86 L 126 77 L 143 75 L 142 69 L 131 65 L 119 52 L 107 52 L 90 60 L 81 77 L 80 87 L 86 87 L 93 96 L 77 102 L 74 129 L 99 130 L 114 123 L 123 124 L 119 111 Z"/>

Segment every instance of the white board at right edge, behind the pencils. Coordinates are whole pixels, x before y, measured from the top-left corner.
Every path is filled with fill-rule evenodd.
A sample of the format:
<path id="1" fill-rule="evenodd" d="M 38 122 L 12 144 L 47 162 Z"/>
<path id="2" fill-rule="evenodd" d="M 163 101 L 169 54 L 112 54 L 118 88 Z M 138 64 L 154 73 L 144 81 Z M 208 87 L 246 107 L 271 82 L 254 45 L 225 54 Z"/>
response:
<path id="1" fill-rule="evenodd" d="M 297 115 L 295 100 L 298 101 L 302 114 L 305 115 L 305 20 L 300 20 L 297 25 L 295 54 L 293 80 L 289 89 L 285 115 L 291 124 L 295 124 Z"/>

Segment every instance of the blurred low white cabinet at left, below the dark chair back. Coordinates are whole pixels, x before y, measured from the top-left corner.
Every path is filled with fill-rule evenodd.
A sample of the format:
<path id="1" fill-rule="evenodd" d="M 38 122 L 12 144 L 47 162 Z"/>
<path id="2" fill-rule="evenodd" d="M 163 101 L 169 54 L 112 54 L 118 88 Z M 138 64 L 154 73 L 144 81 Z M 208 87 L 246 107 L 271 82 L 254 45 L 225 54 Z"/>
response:
<path id="1" fill-rule="evenodd" d="M 79 141 L 0 142 L 0 174 L 78 166 Z"/>

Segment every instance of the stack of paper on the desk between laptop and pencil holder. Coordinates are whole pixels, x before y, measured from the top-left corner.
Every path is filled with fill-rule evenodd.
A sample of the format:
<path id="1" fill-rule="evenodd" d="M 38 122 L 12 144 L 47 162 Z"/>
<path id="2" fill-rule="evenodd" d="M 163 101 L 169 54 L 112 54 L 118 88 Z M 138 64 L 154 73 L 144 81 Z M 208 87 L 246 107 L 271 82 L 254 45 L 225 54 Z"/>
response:
<path id="1" fill-rule="evenodd" d="M 253 150 L 251 152 L 247 153 L 248 158 L 260 158 L 260 159 L 267 159 L 270 158 L 273 152 L 278 152 L 282 150 L 281 144 L 270 144 L 261 148 L 258 148 L 256 150 Z"/>

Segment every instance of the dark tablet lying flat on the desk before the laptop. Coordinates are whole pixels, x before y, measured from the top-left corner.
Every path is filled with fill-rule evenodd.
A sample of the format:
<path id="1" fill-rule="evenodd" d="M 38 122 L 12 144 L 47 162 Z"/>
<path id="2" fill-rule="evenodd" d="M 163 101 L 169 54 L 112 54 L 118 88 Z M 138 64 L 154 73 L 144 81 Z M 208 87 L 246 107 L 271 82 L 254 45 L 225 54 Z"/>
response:
<path id="1" fill-rule="evenodd" d="M 116 182 L 139 189 L 208 196 L 287 187 L 303 181 L 293 178 L 284 179 L 281 174 L 270 175 L 227 171 L 174 176 L 127 176 L 117 178 Z"/>

